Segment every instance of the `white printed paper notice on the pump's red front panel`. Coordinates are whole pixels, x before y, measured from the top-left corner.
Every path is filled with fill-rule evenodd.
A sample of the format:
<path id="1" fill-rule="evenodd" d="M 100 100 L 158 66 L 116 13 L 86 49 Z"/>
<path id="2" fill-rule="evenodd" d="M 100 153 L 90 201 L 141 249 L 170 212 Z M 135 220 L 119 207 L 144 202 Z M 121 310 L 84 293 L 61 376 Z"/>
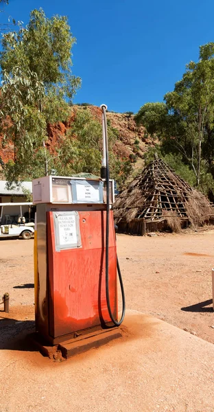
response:
<path id="1" fill-rule="evenodd" d="M 74 245 L 78 243 L 75 216 L 61 214 L 58 216 L 58 231 L 60 246 Z"/>

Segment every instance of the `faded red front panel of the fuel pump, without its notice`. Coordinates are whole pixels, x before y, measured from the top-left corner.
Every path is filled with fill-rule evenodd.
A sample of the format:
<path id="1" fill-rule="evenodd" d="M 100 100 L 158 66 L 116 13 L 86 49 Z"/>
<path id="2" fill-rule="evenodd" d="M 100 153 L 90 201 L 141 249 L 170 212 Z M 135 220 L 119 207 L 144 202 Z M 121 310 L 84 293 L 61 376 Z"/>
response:
<path id="1" fill-rule="evenodd" d="M 53 211 L 47 211 L 48 330 L 60 336 L 100 326 L 110 317 L 106 304 L 106 211 L 78 211 L 81 247 L 58 251 Z M 109 294 L 115 319 L 117 308 L 117 254 L 112 211 L 109 226 Z"/>

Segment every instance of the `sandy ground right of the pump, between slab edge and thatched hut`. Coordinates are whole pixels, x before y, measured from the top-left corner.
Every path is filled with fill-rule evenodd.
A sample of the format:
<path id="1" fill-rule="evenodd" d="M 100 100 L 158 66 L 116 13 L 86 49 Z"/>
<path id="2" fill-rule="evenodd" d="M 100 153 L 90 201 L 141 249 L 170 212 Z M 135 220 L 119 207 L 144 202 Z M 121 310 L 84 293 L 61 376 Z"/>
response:
<path id="1" fill-rule="evenodd" d="M 214 343 L 213 230 L 151 238 L 119 235 L 117 250 L 128 308 Z"/>

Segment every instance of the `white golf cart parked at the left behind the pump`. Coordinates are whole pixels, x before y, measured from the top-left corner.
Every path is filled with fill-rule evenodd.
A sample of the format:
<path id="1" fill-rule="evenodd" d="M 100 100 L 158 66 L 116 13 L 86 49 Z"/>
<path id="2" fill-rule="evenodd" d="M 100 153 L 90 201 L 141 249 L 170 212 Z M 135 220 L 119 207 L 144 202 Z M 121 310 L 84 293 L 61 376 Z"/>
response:
<path id="1" fill-rule="evenodd" d="M 19 238 L 19 236 L 25 240 L 32 238 L 34 234 L 32 203 L 0 203 L 0 207 L 0 238 Z"/>

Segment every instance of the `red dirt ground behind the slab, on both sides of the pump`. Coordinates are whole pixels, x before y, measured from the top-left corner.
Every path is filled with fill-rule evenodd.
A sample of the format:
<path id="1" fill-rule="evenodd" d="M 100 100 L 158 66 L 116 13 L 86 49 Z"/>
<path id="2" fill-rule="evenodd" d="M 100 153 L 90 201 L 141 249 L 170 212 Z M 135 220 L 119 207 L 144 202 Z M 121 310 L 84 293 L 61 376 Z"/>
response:
<path id="1" fill-rule="evenodd" d="M 213 240 L 213 230 L 152 237 L 117 235 L 127 308 L 152 314 L 214 343 Z M 33 243 L 0 241 L 0 294 L 10 293 L 10 314 L 1 305 L 0 319 L 34 319 Z"/>

